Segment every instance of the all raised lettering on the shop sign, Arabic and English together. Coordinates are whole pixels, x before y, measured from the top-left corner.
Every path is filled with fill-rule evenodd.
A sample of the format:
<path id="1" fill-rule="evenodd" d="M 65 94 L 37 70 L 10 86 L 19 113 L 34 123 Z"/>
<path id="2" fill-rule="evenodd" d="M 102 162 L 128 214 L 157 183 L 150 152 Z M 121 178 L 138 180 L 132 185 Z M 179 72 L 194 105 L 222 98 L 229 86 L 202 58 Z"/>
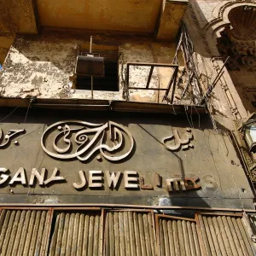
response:
<path id="1" fill-rule="evenodd" d="M 9 130 L 4 137 L 4 142 L 0 148 L 9 144 L 11 137 L 18 136 L 25 130 Z M 0 129 L 0 138 L 3 137 L 3 131 Z M 162 144 L 171 151 L 192 148 L 192 131 L 186 129 L 185 136 L 180 134 L 176 129 L 173 130 L 171 137 L 164 137 Z M 172 145 L 169 143 L 172 141 Z M 90 160 L 94 154 L 101 156 L 111 162 L 125 160 L 135 149 L 135 140 L 130 131 L 123 125 L 113 121 L 103 124 L 95 124 L 80 120 L 65 120 L 57 122 L 43 132 L 41 137 L 41 147 L 44 152 L 55 160 L 75 160 L 81 162 Z M 29 174 L 29 172 L 28 172 Z M 145 183 L 150 178 L 139 175 L 136 171 L 124 172 L 102 172 L 93 171 L 74 171 L 72 177 L 78 178 L 79 181 L 72 183 L 75 189 L 94 188 L 102 189 L 104 187 L 117 189 L 119 183 L 123 183 L 125 189 L 142 189 L 154 190 L 156 188 L 165 188 L 168 192 L 185 191 L 190 189 L 201 189 L 198 177 L 172 177 L 165 178 L 159 173 L 154 172 L 154 183 Z M 48 177 L 47 177 L 48 176 Z M 151 178 L 152 181 L 152 178 Z M 9 173 L 8 168 L 0 168 L 0 185 L 8 183 L 14 185 L 20 183 L 24 186 L 33 186 L 38 183 L 39 186 L 49 186 L 52 183 L 67 182 L 64 176 L 61 176 L 59 168 L 55 167 L 51 175 L 47 175 L 46 168 L 32 168 L 30 177 L 27 178 L 26 170 L 20 167 L 14 175 Z M 104 183 L 107 185 L 104 186 Z"/>

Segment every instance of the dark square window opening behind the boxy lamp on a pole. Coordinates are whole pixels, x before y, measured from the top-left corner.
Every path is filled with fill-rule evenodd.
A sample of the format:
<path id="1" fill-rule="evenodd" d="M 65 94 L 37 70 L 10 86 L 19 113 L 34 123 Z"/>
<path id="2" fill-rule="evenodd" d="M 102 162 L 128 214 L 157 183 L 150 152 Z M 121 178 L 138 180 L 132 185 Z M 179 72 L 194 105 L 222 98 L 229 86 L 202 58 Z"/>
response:
<path id="1" fill-rule="evenodd" d="M 89 44 L 79 45 L 79 55 L 88 54 Z M 104 58 L 105 76 L 93 78 L 93 90 L 119 91 L 118 47 L 93 44 L 92 53 Z M 76 89 L 91 90 L 91 79 L 77 75 Z"/>

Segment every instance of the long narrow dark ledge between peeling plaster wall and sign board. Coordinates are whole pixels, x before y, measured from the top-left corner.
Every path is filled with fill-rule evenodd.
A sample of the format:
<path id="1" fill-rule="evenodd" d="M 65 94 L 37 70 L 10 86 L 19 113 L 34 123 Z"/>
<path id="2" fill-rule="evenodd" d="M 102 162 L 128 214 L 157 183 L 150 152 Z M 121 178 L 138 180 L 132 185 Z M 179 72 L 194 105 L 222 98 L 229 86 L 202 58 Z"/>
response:
<path id="1" fill-rule="evenodd" d="M 48 109 L 81 109 L 87 111 L 115 111 L 137 113 L 174 113 L 183 114 L 186 108 L 189 113 L 205 114 L 205 106 L 168 105 L 145 102 L 104 101 L 89 99 L 36 99 L 36 98 L 0 98 L 0 107 L 6 108 L 48 108 Z"/>

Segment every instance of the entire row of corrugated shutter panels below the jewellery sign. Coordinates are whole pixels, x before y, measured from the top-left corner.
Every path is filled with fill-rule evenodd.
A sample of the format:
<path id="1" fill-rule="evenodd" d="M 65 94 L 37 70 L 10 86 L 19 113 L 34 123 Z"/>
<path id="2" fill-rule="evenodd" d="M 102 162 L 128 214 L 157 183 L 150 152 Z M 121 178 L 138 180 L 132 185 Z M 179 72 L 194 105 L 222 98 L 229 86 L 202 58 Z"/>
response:
<path id="1" fill-rule="evenodd" d="M 3 207 L 0 255 L 247 256 L 256 255 L 255 231 L 255 213 Z"/>

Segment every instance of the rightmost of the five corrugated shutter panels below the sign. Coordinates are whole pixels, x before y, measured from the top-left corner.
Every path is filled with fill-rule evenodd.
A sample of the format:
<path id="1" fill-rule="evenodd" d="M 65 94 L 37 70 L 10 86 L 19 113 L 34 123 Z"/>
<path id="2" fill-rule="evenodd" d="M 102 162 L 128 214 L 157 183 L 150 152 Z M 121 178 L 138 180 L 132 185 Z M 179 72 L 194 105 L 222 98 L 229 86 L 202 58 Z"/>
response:
<path id="1" fill-rule="evenodd" d="M 256 255 L 239 214 L 196 214 L 207 255 Z"/>

